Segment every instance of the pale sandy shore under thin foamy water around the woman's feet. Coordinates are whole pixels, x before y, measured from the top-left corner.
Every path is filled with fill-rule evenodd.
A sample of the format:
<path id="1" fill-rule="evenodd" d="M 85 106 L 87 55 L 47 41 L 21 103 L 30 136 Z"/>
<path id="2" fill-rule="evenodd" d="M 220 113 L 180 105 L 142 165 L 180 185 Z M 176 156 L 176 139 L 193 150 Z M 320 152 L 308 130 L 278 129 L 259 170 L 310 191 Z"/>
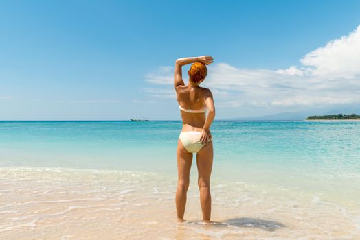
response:
<path id="1" fill-rule="evenodd" d="M 358 239 L 360 212 L 321 195 L 214 180 L 212 225 L 192 181 L 184 223 L 175 180 L 131 171 L 0 169 L 2 239 Z"/>

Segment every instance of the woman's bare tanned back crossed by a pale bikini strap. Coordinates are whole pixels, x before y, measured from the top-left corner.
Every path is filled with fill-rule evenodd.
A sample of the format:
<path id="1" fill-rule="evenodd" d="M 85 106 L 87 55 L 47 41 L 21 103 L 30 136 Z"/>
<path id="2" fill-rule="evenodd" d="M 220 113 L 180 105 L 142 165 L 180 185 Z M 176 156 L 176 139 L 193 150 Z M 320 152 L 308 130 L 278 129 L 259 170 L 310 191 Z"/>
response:
<path id="1" fill-rule="evenodd" d="M 206 108 L 204 93 L 206 88 L 191 85 L 177 87 L 177 101 L 185 110 L 202 110 Z M 183 130 L 201 130 L 205 123 L 205 112 L 185 112 L 180 110 Z"/>

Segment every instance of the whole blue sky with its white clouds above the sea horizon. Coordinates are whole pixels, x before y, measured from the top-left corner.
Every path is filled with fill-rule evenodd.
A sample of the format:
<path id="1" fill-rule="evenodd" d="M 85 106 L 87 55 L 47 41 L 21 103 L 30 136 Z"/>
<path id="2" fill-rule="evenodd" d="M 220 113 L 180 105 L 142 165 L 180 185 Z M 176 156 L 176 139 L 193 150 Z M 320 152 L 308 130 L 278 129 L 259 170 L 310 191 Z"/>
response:
<path id="1" fill-rule="evenodd" d="M 0 119 L 180 119 L 172 67 L 201 55 L 214 57 L 204 86 L 218 119 L 352 108 L 359 12 L 360 1 L 0 1 Z"/>

